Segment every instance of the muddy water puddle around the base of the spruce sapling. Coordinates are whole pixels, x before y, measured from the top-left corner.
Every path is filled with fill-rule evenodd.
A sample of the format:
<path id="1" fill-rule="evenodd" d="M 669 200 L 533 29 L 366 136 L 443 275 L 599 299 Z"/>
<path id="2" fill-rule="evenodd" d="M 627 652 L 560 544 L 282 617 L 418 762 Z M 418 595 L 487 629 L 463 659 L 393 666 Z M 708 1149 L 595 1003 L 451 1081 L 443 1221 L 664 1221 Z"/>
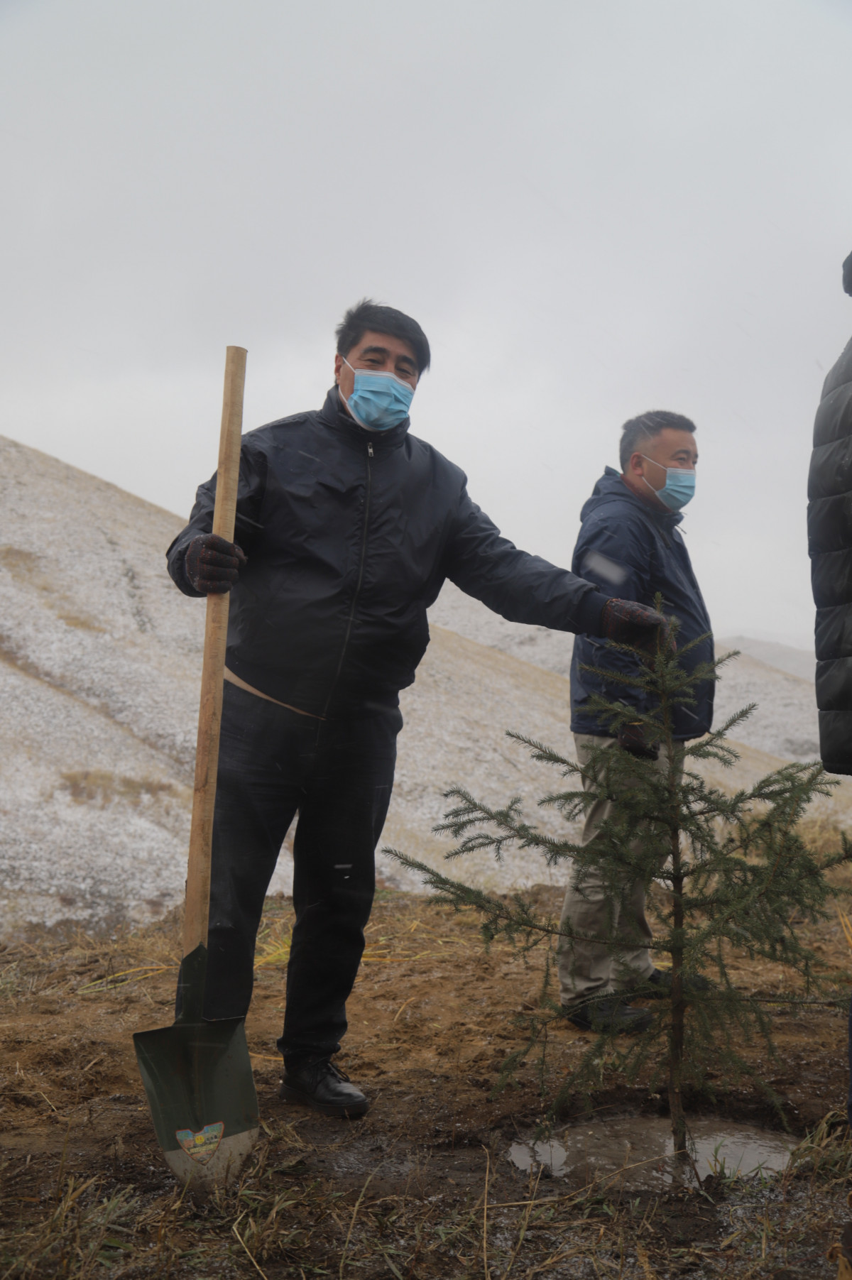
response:
<path id="1" fill-rule="evenodd" d="M 785 1167 L 796 1139 L 752 1125 L 718 1119 L 691 1119 L 690 1152 L 700 1178 L 707 1174 L 777 1172 Z M 553 1178 L 572 1175 L 610 1187 L 663 1188 L 683 1174 L 673 1158 L 672 1124 L 661 1116 L 592 1120 L 554 1133 L 550 1139 L 514 1142 L 508 1158 L 518 1169 Z M 695 1175 L 690 1174 L 692 1180 Z M 690 1176 L 690 1175 L 687 1175 Z M 611 1180 L 610 1180 L 611 1179 Z"/>

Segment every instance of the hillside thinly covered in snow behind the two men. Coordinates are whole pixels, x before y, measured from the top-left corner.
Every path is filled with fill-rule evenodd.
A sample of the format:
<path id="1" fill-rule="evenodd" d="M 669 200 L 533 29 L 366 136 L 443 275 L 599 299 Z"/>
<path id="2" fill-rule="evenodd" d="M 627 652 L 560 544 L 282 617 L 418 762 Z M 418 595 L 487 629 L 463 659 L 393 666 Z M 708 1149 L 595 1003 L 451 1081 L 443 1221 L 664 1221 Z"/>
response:
<path id="1" fill-rule="evenodd" d="M 31 920 L 147 919 L 183 895 L 205 605 L 165 572 L 182 524 L 0 438 L 0 934 Z M 384 844 L 438 864 L 446 845 L 431 828 L 449 783 L 493 801 L 550 787 L 504 731 L 571 751 L 571 636 L 508 623 L 449 585 L 431 623 L 402 695 Z M 761 708 L 739 735 L 743 780 L 774 756 L 815 754 L 812 681 L 751 649 L 720 704 L 751 700 Z M 847 806 L 844 782 L 829 808 Z M 482 855 L 464 872 L 494 887 L 551 876 L 528 854 L 503 868 Z M 417 887 L 384 855 L 380 874 Z M 272 888 L 290 878 L 285 850 Z"/>

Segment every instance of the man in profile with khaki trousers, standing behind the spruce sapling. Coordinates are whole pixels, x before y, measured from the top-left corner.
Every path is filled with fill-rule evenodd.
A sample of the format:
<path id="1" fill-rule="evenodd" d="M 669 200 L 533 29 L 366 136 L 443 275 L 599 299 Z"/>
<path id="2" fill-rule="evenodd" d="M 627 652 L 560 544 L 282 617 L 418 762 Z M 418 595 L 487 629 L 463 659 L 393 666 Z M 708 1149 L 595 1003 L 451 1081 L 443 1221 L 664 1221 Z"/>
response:
<path id="1" fill-rule="evenodd" d="M 651 605 L 658 593 L 661 594 L 664 613 L 679 621 L 678 648 L 706 636 L 684 654 L 682 660 L 688 669 L 713 658 L 710 618 L 678 530 L 683 520 L 681 508 L 695 490 L 697 461 L 695 425 L 690 419 L 658 411 L 626 422 L 620 440 L 622 474 L 606 467 L 595 485 L 581 513 L 572 566 L 583 580 L 618 591 L 629 600 Z M 633 755 L 656 759 L 660 768 L 668 767 L 664 751 L 645 742 L 641 726 L 627 726 L 618 739 L 610 737 L 610 730 L 588 705 L 591 696 L 597 694 L 609 701 L 636 707 L 641 713 L 652 710 L 649 695 L 641 689 L 610 682 L 583 669 L 591 666 L 629 675 L 636 662 L 599 636 L 577 636 L 571 663 L 571 728 L 581 763 L 587 763 L 600 746 L 622 746 Z M 675 709 L 678 741 L 709 732 L 713 691 L 711 682 L 702 684 L 695 705 Z M 592 840 L 609 812 L 610 803 L 604 800 L 587 810 L 583 844 Z M 665 858 L 665 850 L 660 856 Z M 583 1030 L 604 1025 L 617 1032 L 641 1030 L 649 1015 L 629 1007 L 631 988 L 641 983 L 651 993 L 667 993 L 665 975 L 654 968 L 647 946 L 652 934 L 645 918 L 641 881 L 626 884 L 619 901 L 613 902 L 596 873 L 588 873 L 582 882 L 572 878 L 562 923 L 597 937 L 614 929 L 623 945 L 615 960 L 604 943 L 560 942 L 560 997 L 571 1020 Z"/>

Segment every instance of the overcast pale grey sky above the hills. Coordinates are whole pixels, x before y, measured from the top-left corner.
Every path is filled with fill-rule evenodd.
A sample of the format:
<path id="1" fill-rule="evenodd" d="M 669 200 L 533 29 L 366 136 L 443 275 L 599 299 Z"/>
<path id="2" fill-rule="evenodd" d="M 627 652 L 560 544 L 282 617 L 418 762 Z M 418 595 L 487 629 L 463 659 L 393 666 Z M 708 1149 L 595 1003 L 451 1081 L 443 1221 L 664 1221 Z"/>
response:
<path id="1" fill-rule="evenodd" d="M 0 0 L 0 431 L 188 513 L 334 326 L 414 315 L 416 434 L 567 564 L 618 429 L 698 425 L 719 634 L 807 643 L 805 492 L 852 335 L 848 0 Z"/>

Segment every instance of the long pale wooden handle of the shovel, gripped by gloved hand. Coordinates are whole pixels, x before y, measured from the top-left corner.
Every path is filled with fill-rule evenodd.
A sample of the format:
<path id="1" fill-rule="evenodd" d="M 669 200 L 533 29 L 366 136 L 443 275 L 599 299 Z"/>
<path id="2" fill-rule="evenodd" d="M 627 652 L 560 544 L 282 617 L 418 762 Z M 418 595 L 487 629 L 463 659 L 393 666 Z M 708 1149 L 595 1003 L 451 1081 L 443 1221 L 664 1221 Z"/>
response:
<path id="1" fill-rule="evenodd" d="M 214 534 L 234 540 L 237 488 L 239 484 L 239 444 L 243 430 L 243 387 L 246 383 L 246 351 L 229 347 L 225 358 L 225 392 L 221 406 L 219 436 L 219 470 L 216 472 L 216 506 Z M 210 914 L 210 852 L 212 817 L 216 801 L 216 767 L 219 764 L 219 728 L 225 676 L 225 644 L 228 641 L 228 602 L 224 591 L 207 596 L 205 625 L 205 659 L 201 671 L 201 707 L 198 708 L 198 742 L 196 746 L 196 787 L 192 796 L 189 829 L 189 863 L 187 867 L 187 914 L 183 924 L 183 954 L 207 946 Z"/>

